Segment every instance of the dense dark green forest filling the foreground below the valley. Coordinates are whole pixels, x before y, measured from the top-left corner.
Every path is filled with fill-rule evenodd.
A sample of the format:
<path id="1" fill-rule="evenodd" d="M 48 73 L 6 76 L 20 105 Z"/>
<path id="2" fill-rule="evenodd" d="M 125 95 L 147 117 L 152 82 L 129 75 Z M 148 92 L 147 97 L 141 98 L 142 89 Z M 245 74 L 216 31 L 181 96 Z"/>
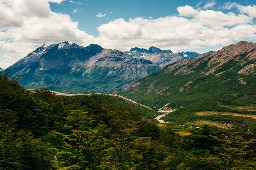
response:
<path id="1" fill-rule="evenodd" d="M 157 124 L 155 114 L 107 95 L 27 90 L 0 72 L 0 170 L 256 169 L 251 119 L 189 128 Z"/>

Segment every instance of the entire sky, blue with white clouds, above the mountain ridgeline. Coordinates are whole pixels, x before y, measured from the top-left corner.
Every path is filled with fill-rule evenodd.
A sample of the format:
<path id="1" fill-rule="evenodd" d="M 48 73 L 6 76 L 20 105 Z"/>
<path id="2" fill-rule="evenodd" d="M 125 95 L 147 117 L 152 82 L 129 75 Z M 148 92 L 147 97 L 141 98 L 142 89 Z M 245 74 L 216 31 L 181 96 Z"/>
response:
<path id="1" fill-rule="evenodd" d="M 174 52 L 256 42 L 255 0 L 0 0 L 0 67 L 43 43 Z M 97 17 L 98 16 L 98 17 Z"/>

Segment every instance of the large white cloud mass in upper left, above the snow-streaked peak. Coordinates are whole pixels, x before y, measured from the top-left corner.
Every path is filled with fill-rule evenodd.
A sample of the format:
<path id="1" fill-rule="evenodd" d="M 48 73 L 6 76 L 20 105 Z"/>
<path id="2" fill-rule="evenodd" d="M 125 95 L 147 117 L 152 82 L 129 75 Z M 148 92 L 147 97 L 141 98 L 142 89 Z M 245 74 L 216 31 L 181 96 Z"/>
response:
<path id="1" fill-rule="evenodd" d="M 66 40 L 83 45 L 94 43 L 94 37 L 79 30 L 78 23 L 69 15 L 52 12 L 49 2 L 63 0 L 0 0 L 0 49 L 14 59 L 0 56 L 2 67 L 13 64 L 43 43 Z"/>

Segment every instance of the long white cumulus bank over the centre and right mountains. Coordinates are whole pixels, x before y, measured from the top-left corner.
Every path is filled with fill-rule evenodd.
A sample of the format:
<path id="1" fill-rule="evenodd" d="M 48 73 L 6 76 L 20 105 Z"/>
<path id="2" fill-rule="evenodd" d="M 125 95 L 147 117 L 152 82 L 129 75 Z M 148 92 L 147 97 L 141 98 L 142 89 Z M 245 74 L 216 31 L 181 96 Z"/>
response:
<path id="1" fill-rule="evenodd" d="M 100 25 L 96 39 L 105 47 L 127 50 L 131 46 L 163 49 L 189 49 L 201 46 L 217 46 L 234 40 L 256 38 L 253 17 L 243 14 L 227 14 L 213 10 L 196 10 L 191 6 L 178 7 L 180 16 L 157 19 L 143 17 L 119 18 Z M 183 17 L 185 16 L 185 17 Z"/>

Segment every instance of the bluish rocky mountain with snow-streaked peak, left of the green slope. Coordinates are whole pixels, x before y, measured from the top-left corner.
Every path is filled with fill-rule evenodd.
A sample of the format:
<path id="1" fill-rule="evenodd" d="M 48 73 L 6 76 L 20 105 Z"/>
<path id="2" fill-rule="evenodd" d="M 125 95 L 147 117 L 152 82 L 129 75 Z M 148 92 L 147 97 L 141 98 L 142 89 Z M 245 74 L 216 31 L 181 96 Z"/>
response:
<path id="1" fill-rule="evenodd" d="M 87 47 L 68 42 L 45 44 L 13 66 L 26 88 L 41 86 L 61 92 L 113 92 L 132 81 L 157 72 L 160 67 L 99 45 Z"/>

